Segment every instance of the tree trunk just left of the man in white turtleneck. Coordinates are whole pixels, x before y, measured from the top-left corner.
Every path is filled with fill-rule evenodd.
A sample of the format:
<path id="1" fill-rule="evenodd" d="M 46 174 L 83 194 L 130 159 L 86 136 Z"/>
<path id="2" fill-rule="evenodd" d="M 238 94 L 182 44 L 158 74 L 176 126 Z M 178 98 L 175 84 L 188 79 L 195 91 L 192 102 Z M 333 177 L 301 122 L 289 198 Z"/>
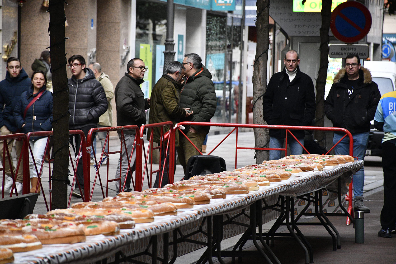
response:
<path id="1" fill-rule="evenodd" d="M 257 0 L 257 46 L 253 65 L 253 123 L 264 125 L 263 94 L 267 89 L 268 31 L 269 31 L 269 0 Z M 247 32 L 245 33 L 247 34 Z M 254 129 L 255 146 L 263 148 L 269 141 L 268 129 Z M 266 146 L 268 147 L 268 145 Z M 256 163 L 268 160 L 268 151 L 256 151 Z"/>

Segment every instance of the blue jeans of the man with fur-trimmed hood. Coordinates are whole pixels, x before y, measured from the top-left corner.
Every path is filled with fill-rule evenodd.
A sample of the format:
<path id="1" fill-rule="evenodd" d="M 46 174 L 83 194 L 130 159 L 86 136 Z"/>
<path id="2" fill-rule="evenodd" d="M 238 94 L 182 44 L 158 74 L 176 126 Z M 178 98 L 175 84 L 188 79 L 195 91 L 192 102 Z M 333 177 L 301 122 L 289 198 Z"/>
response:
<path id="1" fill-rule="evenodd" d="M 366 155 L 367 144 L 369 142 L 369 133 L 353 133 L 353 156 L 359 160 L 364 160 Z M 344 135 L 334 133 L 333 144 L 337 143 Z M 345 137 L 334 147 L 335 154 L 349 155 L 349 138 Z M 355 175 L 353 175 L 353 195 L 363 196 L 364 186 L 364 167 L 362 167 Z"/>

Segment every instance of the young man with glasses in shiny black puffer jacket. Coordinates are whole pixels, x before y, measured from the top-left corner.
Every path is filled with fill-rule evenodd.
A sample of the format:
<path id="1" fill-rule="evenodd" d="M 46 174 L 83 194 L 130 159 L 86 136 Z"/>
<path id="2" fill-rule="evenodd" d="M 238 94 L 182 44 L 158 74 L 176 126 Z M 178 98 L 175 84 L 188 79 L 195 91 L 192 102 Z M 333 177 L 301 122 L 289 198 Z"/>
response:
<path id="1" fill-rule="evenodd" d="M 90 68 L 86 68 L 85 59 L 81 55 L 73 55 L 69 58 L 69 69 L 72 78 L 69 79 L 69 129 L 81 129 L 87 136 L 89 129 L 97 127 L 99 116 L 107 110 L 107 98 L 105 90 Z M 75 139 L 75 154 L 78 155 L 81 139 L 79 135 L 71 135 L 70 141 Z M 91 142 L 87 142 L 91 146 Z M 84 177 L 82 168 L 82 158 L 78 161 L 77 179 L 82 193 L 84 193 Z M 72 195 L 81 197 L 76 181 Z"/>

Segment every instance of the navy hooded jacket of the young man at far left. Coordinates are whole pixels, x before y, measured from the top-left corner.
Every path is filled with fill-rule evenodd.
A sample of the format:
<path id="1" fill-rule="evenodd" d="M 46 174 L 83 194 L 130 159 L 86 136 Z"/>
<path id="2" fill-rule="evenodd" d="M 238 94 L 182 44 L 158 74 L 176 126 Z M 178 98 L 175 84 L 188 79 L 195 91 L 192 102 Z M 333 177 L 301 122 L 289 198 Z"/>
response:
<path id="1" fill-rule="evenodd" d="M 5 125 L 10 131 L 17 130 L 13 116 L 14 108 L 21 94 L 31 85 L 32 81 L 23 68 L 15 78 L 11 78 L 9 72 L 6 73 L 6 78 L 0 82 L 0 127 Z"/>

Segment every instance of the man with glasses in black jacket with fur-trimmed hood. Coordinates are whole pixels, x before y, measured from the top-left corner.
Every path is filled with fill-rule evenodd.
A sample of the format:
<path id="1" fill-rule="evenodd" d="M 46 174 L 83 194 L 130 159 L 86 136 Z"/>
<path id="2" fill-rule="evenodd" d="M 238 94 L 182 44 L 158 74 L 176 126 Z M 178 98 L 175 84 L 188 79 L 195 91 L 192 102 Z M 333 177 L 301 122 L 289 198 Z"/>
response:
<path id="1" fill-rule="evenodd" d="M 353 136 L 353 156 L 364 160 L 369 139 L 370 121 L 381 94 L 378 85 L 371 80 L 370 71 L 360 66 L 357 54 L 345 58 L 345 68 L 334 77 L 329 95 L 324 102 L 324 112 L 334 127 L 348 129 Z M 334 133 L 333 144 L 345 134 Z M 334 148 L 335 154 L 349 154 L 346 137 Z M 364 168 L 353 175 L 354 210 L 370 213 L 363 202 Z"/>

